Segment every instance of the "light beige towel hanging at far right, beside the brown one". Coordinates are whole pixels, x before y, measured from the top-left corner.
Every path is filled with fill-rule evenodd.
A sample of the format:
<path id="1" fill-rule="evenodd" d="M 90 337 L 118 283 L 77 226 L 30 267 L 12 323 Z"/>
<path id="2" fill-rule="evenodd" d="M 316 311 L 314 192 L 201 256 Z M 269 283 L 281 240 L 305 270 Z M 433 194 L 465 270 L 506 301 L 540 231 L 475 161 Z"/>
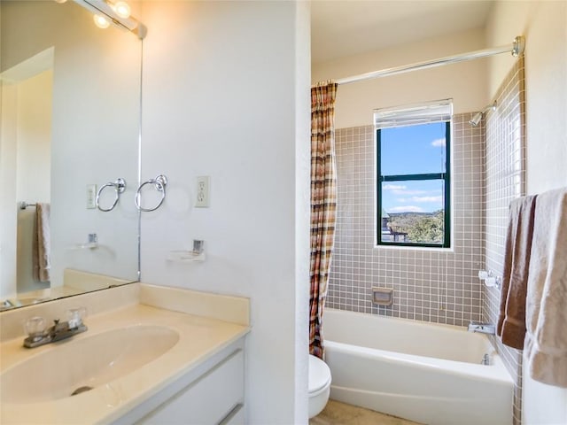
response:
<path id="1" fill-rule="evenodd" d="M 524 343 L 532 379 L 567 388 L 567 188 L 538 196 Z"/>

